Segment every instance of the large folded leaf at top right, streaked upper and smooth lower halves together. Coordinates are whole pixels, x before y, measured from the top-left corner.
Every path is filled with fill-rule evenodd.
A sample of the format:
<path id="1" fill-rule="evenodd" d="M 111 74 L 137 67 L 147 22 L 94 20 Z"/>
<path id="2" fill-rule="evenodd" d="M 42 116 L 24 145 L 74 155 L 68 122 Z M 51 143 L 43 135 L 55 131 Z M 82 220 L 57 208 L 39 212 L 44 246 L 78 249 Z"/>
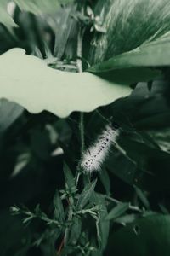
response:
<path id="1" fill-rule="evenodd" d="M 99 1 L 96 13 L 106 32 L 93 38 L 89 58 L 94 67 L 89 71 L 112 79 L 111 71 L 117 69 L 134 77 L 144 67 L 170 65 L 169 1 L 115 0 L 107 7 Z"/>

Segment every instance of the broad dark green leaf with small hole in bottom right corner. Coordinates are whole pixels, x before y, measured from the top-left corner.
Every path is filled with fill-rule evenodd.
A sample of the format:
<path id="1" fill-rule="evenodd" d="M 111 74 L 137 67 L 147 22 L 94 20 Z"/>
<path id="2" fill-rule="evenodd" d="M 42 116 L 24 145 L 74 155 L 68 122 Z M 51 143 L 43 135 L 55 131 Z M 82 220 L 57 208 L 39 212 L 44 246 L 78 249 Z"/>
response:
<path id="1" fill-rule="evenodd" d="M 170 216 L 152 214 L 116 231 L 105 255 L 168 256 Z"/>

